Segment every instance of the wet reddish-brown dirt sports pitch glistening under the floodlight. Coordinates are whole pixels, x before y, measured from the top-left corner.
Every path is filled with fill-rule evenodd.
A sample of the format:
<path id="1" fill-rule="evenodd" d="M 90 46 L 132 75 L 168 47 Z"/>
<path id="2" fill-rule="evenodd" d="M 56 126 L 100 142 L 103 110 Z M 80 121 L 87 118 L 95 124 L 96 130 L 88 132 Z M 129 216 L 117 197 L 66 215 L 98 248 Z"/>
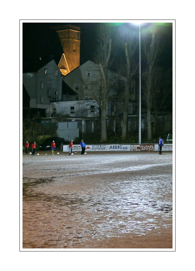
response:
<path id="1" fill-rule="evenodd" d="M 173 248 L 171 151 L 56 153 L 23 152 L 23 248 Z"/>

